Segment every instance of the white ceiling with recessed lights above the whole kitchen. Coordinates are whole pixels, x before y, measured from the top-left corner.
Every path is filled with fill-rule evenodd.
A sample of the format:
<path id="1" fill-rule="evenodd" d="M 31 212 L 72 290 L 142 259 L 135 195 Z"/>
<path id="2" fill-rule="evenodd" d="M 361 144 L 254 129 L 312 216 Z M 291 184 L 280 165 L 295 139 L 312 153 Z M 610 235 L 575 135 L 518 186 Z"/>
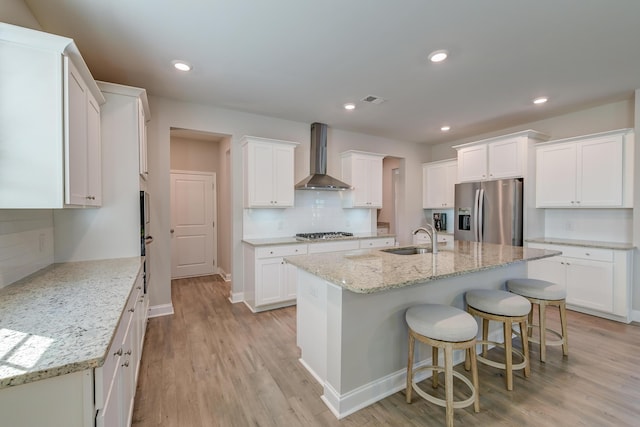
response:
<path id="1" fill-rule="evenodd" d="M 637 0 L 25 3 L 45 31 L 76 41 L 96 79 L 405 141 L 456 140 L 640 88 Z M 428 63 L 436 49 L 450 58 Z M 367 95 L 387 101 L 358 102 Z M 549 102 L 534 106 L 540 95 Z"/>

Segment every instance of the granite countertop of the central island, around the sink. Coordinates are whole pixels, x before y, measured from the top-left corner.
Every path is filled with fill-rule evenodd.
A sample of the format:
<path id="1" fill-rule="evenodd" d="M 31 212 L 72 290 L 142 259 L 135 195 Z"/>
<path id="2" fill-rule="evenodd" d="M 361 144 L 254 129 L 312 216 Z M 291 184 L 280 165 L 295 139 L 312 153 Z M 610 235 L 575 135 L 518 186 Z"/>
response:
<path id="1" fill-rule="evenodd" d="M 436 255 L 395 255 L 361 249 L 289 256 L 285 261 L 349 291 L 374 293 L 560 254 L 521 246 L 455 241 L 438 245 Z"/>

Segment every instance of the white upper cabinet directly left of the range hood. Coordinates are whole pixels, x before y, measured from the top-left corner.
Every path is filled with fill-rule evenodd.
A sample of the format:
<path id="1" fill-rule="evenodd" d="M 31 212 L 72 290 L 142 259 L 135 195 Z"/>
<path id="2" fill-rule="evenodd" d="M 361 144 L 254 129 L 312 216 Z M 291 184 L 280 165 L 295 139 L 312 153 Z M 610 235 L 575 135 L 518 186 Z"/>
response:
<path id="1" fill-rule="evenodd" d="M 287 208 L 294 203 L 297 142 L 242 138 L 245 208 Z"/>

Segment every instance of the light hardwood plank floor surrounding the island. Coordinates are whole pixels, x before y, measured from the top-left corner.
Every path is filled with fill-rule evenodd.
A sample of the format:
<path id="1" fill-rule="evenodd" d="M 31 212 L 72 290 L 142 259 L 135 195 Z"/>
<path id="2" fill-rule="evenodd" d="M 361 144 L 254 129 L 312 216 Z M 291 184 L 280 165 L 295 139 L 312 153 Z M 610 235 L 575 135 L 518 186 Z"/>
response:
<path id="1" fill-rule="evenodd" d="M 252 314 L 228 301 L 229 286 L 218 276 L 174 280 L 172 291 L 175 314 L 147 327 L 136 427 L 444 424 L 444 408 L 419 397 L 409 405 L 404 391 L 337 420 L 298 362 L 295 307 Z M 549 314 L 557 328 L 556 312 Z M 572 311 L 568 323 L 569 357 L 548 347 L 543 364 L 532 344 L 531 377 L 515 373 L 511 392 L 501 371 L 480 364 L 480 413 L 456 409 L 455 424 L 640 425 L 640 326 Z"/>

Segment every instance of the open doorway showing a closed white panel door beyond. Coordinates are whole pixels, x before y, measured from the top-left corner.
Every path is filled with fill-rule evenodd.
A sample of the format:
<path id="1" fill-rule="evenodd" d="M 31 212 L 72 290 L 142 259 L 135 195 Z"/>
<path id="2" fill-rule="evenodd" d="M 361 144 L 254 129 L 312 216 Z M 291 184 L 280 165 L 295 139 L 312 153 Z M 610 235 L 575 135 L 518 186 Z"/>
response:
<path id="1" fill-rule="evenodd" d="M 170 130 L 171 278 L 231 280 L 229 135 Z"/>

